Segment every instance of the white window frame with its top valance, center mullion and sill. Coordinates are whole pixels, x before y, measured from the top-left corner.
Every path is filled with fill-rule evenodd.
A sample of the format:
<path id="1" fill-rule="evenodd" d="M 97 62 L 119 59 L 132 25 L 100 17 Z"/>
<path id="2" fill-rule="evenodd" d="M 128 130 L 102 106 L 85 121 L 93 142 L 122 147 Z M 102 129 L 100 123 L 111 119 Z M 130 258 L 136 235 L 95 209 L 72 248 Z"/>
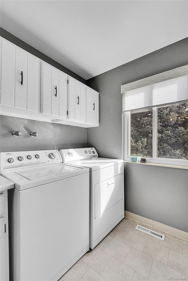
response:
<path id="1" fill-rule="evenodd" d="M 122 93 L 122 137 L 123 137 L 123 160 L 131 161 L 130 159 L 130 112 L 125 112 L 125 92 L 136 89 L 142 86 L 147 86 L 160 81 L 172 79 L 174 77 L 187 75 L 188 65 L 178 67 L 160 74 L 156 74 L 138 81 L 131 82 L 121 86 Z M 177 102 L 178 103 L 178 102 Z M 181 101 L 179 101 L 181 103 Z M 172 103 L 173 104 L 173 103 Z M 169 105 L 169 104 L 167 104 Z M 165 106 L 165 105 L 164 105 Z M 140 108 L 141 109 L 141 108 Z M 169 165 L 187 167 L 188 160 L 186 159 L 167 159 L 157 157 L 157 107 L 152 108 L 152 158 L 146 157 L 147 162 L 150 164 Z M 134 162 L 133 162 L 134 163 Z"/>

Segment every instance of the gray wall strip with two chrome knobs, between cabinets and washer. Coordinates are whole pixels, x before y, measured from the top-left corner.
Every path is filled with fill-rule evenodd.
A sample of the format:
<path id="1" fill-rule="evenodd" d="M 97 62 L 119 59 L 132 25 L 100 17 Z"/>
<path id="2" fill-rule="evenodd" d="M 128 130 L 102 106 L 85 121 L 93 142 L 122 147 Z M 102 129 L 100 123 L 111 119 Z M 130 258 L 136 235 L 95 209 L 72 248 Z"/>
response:
<path id="1" fill-rule="evenodd" d="M 26 151 L 86 147 L 86 128 L 1 115 L 0 151 Z M 12 131 L 21 131 L 19 137 Z M 38 132 L 31 137 L 30 132 Z"/>

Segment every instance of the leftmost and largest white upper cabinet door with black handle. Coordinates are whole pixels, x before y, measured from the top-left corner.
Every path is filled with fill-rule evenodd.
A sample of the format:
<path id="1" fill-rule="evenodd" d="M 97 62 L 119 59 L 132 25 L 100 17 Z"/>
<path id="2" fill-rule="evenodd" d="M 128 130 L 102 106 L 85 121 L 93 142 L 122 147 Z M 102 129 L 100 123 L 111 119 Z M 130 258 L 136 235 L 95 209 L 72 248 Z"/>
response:
<path id="1" fill-rule="evenodd" d="M 1 105 L 37 112 L 39 59 L 1 38 Z"/>

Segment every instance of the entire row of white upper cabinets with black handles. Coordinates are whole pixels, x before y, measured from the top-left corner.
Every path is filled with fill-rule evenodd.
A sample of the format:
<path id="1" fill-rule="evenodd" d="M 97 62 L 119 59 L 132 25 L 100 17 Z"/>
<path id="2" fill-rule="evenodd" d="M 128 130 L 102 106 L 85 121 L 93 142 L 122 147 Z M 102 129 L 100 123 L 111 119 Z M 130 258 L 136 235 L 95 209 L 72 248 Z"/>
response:
<path id="1" fill-rule="evenodd" d="M 0 37 L 0 114 L 99 126 L 99 93 Z"/>

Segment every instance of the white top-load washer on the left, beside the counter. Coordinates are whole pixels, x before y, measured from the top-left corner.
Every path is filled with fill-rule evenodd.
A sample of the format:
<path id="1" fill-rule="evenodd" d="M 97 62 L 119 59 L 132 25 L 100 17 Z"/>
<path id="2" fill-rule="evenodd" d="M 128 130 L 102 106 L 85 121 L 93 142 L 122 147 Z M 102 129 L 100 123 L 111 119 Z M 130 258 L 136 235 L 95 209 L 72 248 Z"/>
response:
<path id="1" fill-rule="evenodd" d="M 89 250 L 89 169 L 57 150 L 1 152 L 9 193 L 13 281 L 57 281 Z"/>

